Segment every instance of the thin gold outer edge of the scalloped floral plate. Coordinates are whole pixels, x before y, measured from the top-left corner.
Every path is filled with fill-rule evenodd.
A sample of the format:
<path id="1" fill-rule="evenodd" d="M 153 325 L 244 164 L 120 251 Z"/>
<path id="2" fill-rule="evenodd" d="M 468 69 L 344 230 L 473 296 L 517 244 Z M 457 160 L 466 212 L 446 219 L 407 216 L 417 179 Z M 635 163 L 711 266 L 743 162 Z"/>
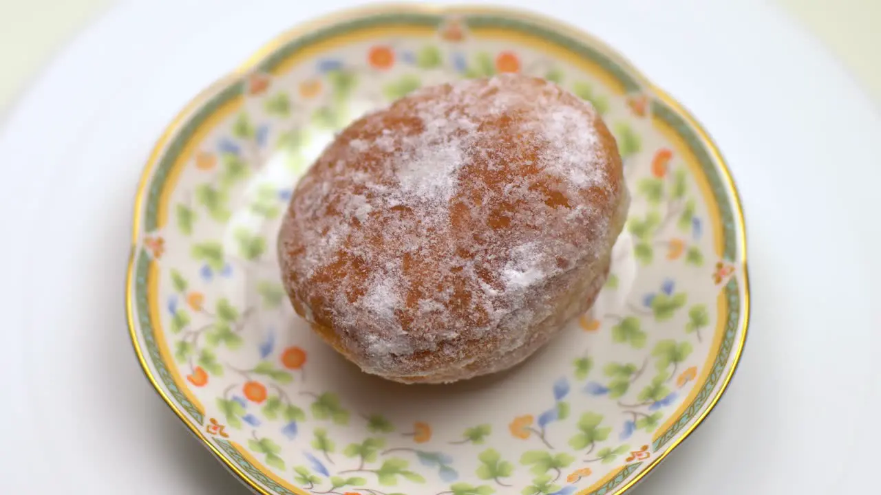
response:
<path id="1" fill-rule="evenodd" d="M 260 493 L 261 495 L 273 495 L 270 491 L 267 491 L 263 488 L 263 486 L 258 484 L 254 479 L 249 477 L 238 465 L 228 459 L 226 455 L 220 450 L 220 448 L 211 443 L 211 441 L 209 441 L 209 439 L 205 436 L 204 432 L 197 428 L 196 425 L 192 424 L 189 419 L 184 416 L 183 411 L 175 406 L 171 398 L 167 395 L 163 388 L 159 386 L 159 379 L 152 373 L 150 366 L 147 362 L 144 350 L 141 348 L 141 344 L 138 342 L 137 328 L 135 324 L 135 294 L 132 281 L 135 276 L 137 246 L 141 242 L 140 231 L 142 221 L 141 218 L 143 217 L 144 213 L 144 196 L 148 192 L 148 186 L 150 184 L 155 166 L 157 166 L 157 164 L 159 163 L 159 159 L 162 157 L 163 151 L 165 151 L 167 144 L 176 134 L 181 131 L 181 124 L 185 123 L 189 116 L 192 115 L 194 111 L 196 111 L 196 109 L 201 107 L 204 102 L 211 97 L 211 95 L 217 92 L 219 88 L 225 87 L 226 85 L 234 84 L 237 80 L 241 79 L 249 72 L 258 68 L 260 64 L 266 61 L 273 53 L 278 50 L 278 48 L 283 48 L 290 41 L 295 40 L 304 34 L 310 33 L 316 29 L 320 29 L 323 27 L 337 25 L 347 20 L 354 20 L 365 16 L 388 14 L 391 12 L 431 15 L 499 15 L 507 18 L 517 18 L 523 21 L 535 23 L 537 25 L 546 26 L 574 40 L 582 41 L 596 47 L 601 47 L 603 48 L 603 55 L 609 56 L 611 59 L 614 59 L 615 62 L 625 67 L 629 71 L 630 76 L 638 79 L 640 84 L 650 90 L 657 100 L 661 100 L 665 105 L 670 107 L 670 109 L 674 110 L 676 114 L 680 118 L 682 118 L 682 120 L 685 121 L 685 123 L 687 123 L 689 127 L 692 128 L 697 137 L 700 138 L 700 144 L 705 147 L 709 155 L 712 157 L 712 159 L 714 159 L 714 162 L 718 165 L 718 171 L 720 173 L 720 178 L 722 179 L 723 187 L 729 194 L 729 202 L 731 205 L 734 220 L 737 224 L 737 227 L 739 227 L 734 230 L 736 233 L 736 244 L 737 250 L 740 253 L 740 259 L 731 260 L 731 262 L 736 264 L 740 268 L 743 278 L 743 317 L 741 319 L 742 322 L 739 325 L 739 328 L 737 328 L 737 332 L 740 334 L 740 338 L 737 339 L 737 341 L 734 343 L 734 348 L 731 350 L 733 358 L 731 358 L 729 372 L 722 377 L 722 384 L 715 395 L 708 398 L 706 408 L 693 420 L 692 425 L 688 426 L 685 432 L 682 432 L 675 440 L 672 440 L 670 442 L 670 445 L 666 447 L 661 454 L 657 455 L 655 459 L 653 459 L 653 461 L 649 463 L 645 469 L 640 470 L 640 472 L 637 473 L 636 476 L 633 477 L 633 479 L 627 480 L 625 484 L 619 486 L 615 491 L 615 493 L 618 494 L 625 493 L 626 491 L 631 490 L 636 484 L 639 484 L 640 481 L 642 481 L 645 477 L 647 477 L 649 473 L 651 473 L 661 462 L 663 462 L 667 455 L 669 455 L 673 450 L 676 449 L 676 447 L 678 447 L 688 437 L 690 437 L 692 433 L 697 430 L 698 426 L 703 424 L 704 420 L 707 418 L 709 413 L 714 410 L 716 404 L 719 402 L 719 400 L 722 398 L 722 395 L 724 395 L 725 391 L 728 389 L 730 381 L 732 380 L 734 374 L 737 372 L 737 367 L 740 364 L 740 359 L 743 355 L 744 346 L 746 344 L 746 339 L 749 334 L 751 308 L 749 272 L 747 267 L 748 262 L 746 251 L 746 223 L 744 219 L 744 209 L 743 204 L 741 203 L 740 195 L 737 191 L 736 183 L 731 175 L 728 163 L 722 157 L 722 152 L 719 151 L 707 130 L 704 129 L 700 122 L 698 122 L 697 119 L 687 109 L 685 109 L 685 107 L 681 103 L 670 96 L 670 93 L 665 92 L 663 89 L 652 83 L 648 79 L 648 77 L 646 77 L 633 65 L 633 63 L 627 60 L 625 56 L 618 53 L 617 50 L 611 48 L 604 41 L 579 28 L 568 25 L 556 18 L 545 16 L 544 14 L 540 14 L 535 11 L 476 4 L 441 6 L 433 4 L 394 3 L 374 4 L 366 7 L 362 6 L 336 11 L 328 15 L 301 22 L 299 25 L 294 26 L 292 29 L 289 29 L 283 33 L 279 33 L 274 38 L 272 38 L 272 40 L 264 43 L 261 48 L 255 50 L 255 52 L 250 55 L 244 63 L 241 63 L 241 65 L 236 67 L 234 70 L 226 73 L 226 75 L 218 78 L 213 83 L 206 86 L 202 91 L 198 92 L 192 100 L 189 100 L 189 102 L 185 104 L 177 113 L 177 115 L 175 115 L 174 118 L 167 124 L 166 128 L 162 131 L 162 133 L 159 135 L 159 138 L 156 140 L 156 143 L 154 144 L 152 151 L 150 152 L 150 155 L 144 164 L 144 169 L 141 173 L 140 179 L 138 180 L 137 192 L 134 197 L 135 206 L 133 210 L 134 218 L 132 221 L 130 259 L 128 263 L 128 268 L 126 270 L 125 306 L 126 320 L 129 326 L 129 335 L 131 338 L 133 349 L 137 356 L 137 360 L 141 365 L 141 369 L 144 372 L 147 380 L 150 381 L 152 387 L 155 389 L 157 394 L 159 394 L 162 400 L 167 404 L 167 406 L 174 411 L 174 414 L 179 419 L 181 419 L 183 424 L 188 427 L 189 431 L 196 435 L 196 438 L 198 440 L 201 440 L 201 442 L 204 444 L 204 447 L 208 448 L 209 451 L 211 451 L 211 454 L 213 454 L 215 457 L 218 458 L 218 460 L 221 461 L 221 463 L 227 470 L 236 475 L 236 477 L 239 478 L 239 481 L 248 486 L 250 490 L 255 491 L 256 493 Z"/>

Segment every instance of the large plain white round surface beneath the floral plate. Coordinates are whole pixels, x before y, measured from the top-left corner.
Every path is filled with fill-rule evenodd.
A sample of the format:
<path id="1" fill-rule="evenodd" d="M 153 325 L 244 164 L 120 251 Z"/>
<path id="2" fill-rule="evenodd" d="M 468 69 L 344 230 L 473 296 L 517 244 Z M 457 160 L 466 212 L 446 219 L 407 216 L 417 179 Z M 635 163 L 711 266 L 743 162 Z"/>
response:
<path id="1" fill-rule="evenodd" d="M 0 493 L 247 493 L 152 392 L 131 351 L 132 199 L 183 103 L 280 30 L 342 4 L 121 5 L 12 110 L 0 129 Z M 542 9 L 608 41 L 685 103 L 728 159 L 746 210 L 752 319 L 741 366 L 706 424 L 634 493 L 877 492 L 881 118 L 869 100 L 766 3 Z"/>

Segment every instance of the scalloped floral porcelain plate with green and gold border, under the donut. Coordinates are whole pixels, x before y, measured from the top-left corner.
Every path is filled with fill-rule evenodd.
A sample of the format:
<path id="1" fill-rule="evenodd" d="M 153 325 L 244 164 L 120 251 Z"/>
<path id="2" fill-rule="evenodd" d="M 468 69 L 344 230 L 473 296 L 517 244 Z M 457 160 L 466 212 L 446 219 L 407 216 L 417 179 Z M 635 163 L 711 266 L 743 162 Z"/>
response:
<path id="1" fill-rule="evenodd" d="M 520 71 L 603 114 L 633 205 L 589 314 L 449 386 L 360 373 L 288 307 L 275 236 L 334 132 L 421 85 Z M 713 409 L 744 346 L 744 219 L 700 125 L 620 55 L 502 9 L 347 11 L 281 35 L 181 111 L 138 190 L 126 291 L 159 395 L 264 494 L 621 493 Z"/>

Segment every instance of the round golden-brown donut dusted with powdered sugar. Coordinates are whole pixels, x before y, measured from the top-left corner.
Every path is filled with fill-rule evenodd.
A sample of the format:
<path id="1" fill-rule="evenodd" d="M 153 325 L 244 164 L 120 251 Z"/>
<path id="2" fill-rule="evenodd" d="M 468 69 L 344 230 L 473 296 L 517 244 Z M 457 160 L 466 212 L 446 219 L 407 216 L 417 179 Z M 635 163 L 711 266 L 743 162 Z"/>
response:
<path id="1" fill-rule="evenodd" d="M 433 85 L 352 122 L 300 178 L 282 283 L 366 373 L 497 373 L 593 306 L 629 204 L 587 101 L 522 75 Z"/>

